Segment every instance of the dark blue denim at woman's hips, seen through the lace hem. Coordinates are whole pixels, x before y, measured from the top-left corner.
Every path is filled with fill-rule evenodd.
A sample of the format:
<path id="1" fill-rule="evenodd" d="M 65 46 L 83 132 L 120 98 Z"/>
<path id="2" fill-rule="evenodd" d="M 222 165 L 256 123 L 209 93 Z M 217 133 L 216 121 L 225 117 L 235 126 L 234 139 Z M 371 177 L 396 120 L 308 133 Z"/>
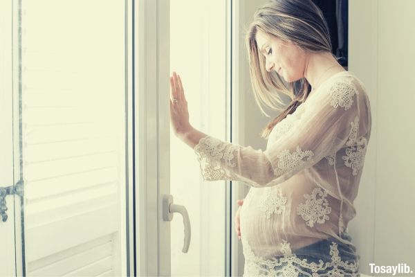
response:
<path id="1" fill-rule="evenodd" d="M 351 242 L 351 236 L 346 231 L 341 233 L 340 237 Z M 281 266 L 273 268 L 275 276 L 360 277 L 360 255 L 356 252 L 356 247 L 344 244 L 335 238 L 327 238 L 296 249 L 292 256 L 276 256 L 275 258 L 283 261 Z"/>

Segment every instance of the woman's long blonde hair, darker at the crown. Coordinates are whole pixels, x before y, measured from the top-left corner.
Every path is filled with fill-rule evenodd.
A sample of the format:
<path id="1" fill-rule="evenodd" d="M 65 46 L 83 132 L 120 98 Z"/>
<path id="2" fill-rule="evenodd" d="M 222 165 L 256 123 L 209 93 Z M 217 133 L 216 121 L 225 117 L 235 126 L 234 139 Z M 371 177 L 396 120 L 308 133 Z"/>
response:
<path id="1" fill-rule="evenodd" d="M 259 53 L 255 40 L 257 30 L 282 39 L 284 42 L 292 42 L 305 51 L 313 53 L 329 51 L 331 55 L 333 53 L 329 27 L 322 11 L 313 1 L 268 0 L 255 12 L 252 23 L 248 26 L 248 32 L 246 32 L 250 78 L 255 101 L 267 117 L 270 116 L 262 108 L 261 102 L 271 109 L 281 111 L 260 133 L 261 137 L 268 139 L 273 127 L 288 114 L 292 114 L 306 100 L 311 88 L 306 78 L 287 83 L 277 72 L 266 71 L 265 57 Z M 337 57 L 335 58 L 338 60 Z M 281 94 L 291 98 L 288 107 L 285 107 Z"/>

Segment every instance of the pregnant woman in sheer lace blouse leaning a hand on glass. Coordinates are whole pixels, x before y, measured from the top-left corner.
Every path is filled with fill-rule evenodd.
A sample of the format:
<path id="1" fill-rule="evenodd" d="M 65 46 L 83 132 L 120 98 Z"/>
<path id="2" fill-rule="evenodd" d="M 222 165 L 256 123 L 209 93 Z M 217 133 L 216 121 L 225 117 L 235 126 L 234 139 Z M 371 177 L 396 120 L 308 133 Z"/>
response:
<path id="1" fill-rule="evenodd" d="M 192 127 L 181 78 L 170 78 L 172 127 L 194 149 L 203 179 L 250 186 L 236 219 L 243 276 L 360 276 L 347 225 L 371 134 L 365 86 L 332 55 L 311 0 L 268 1 L 246 45 L 257 104 L 278 111 L 262 132 L 265 151 Z M 292 100 L 284 110 L 282 93 Z"/>

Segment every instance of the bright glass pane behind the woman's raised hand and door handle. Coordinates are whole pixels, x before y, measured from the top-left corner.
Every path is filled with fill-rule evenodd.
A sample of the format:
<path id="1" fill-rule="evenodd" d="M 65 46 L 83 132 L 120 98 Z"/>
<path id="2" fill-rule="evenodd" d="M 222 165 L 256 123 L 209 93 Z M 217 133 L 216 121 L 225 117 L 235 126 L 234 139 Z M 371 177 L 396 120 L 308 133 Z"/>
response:
<path id="1" fill-rule="evenodd" d="M 227 1 L 170 1 L 170 72 L 181 75 L 190 124 L 227 140 Z M 172 276 L 225 276 L 227 184 L 203 181 L 196 154 L 170 133 L 170 194 L 187 209 L 190 245 L 183 253 L 183 220 L 171 222 Z"/>

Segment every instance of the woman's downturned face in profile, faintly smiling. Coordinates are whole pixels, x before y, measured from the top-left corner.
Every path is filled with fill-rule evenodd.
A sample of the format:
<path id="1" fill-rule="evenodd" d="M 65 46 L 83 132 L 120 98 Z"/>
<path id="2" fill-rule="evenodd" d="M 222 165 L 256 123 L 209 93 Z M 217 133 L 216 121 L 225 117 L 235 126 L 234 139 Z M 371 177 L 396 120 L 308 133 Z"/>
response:
<path id="1" fill-rule="evenodd" d="M 294 82 L 304 77 L 306 55 L 292 42 L 257 31 L 258 52 L 266 59 L 266 70 L 276 71 L 286 82 Z"/>

